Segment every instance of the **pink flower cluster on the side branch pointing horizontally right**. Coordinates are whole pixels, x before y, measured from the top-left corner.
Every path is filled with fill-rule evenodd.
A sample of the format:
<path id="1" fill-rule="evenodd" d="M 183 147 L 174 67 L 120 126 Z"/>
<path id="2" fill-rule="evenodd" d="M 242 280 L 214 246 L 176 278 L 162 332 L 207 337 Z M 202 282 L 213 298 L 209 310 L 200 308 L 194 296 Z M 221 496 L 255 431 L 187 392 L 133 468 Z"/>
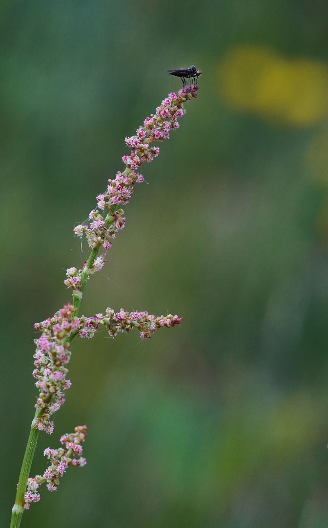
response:
<path id="1" fill-rule="evenodd" d="M 120 309 L 120 312 L 115 313 L 111 308 L 107 308 L 105 315 L 97 314 L 89 319 L 81 317 L 81 320 L 83 325 L 81 330 L 79 330 L 80 337 L 93 337 L 98 325 L 102 324 L 108 328 L 108 333 L 111 337 L 115 337 L 118 332 L 129 332 L 133 328 L 138 328 L 141 339 L 146 339 L 163 326 L 169 328 L 180 324 L 181 318 L 171 314 L 156 317 L 155 315 L 149 315 L 148 312 L 129 313 L 123 308 Z"/>

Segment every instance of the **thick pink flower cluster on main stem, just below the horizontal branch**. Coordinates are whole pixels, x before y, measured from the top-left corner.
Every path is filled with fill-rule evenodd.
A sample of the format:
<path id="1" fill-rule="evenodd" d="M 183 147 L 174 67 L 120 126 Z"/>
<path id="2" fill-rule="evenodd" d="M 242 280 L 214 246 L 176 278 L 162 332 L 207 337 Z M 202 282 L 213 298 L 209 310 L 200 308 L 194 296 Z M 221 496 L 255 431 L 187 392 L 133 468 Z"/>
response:
<path id="1" fill-rule="evenodd" d="M 74 317 L 74 308 L 68 304 L 56 312 L 49 319 L 36 323 L 34 328 L 42 332 L 40 338 L 34 340 L 37 348 L 34 354 L 33 376 L 35 385 L 40 389 L 35 407 L 44 409 L 41 418 L 35 418 L 34 424 L 38 429 L 51 434 L 53 422 L 50 421 L 52 413 L 57 411 L 65 401 L 63 391 L 71 386 L 70 380 L 65 376 L 66 367 L 70 361 L 71 352 L 65 338 L 80 324 L 80 319 Z"/>

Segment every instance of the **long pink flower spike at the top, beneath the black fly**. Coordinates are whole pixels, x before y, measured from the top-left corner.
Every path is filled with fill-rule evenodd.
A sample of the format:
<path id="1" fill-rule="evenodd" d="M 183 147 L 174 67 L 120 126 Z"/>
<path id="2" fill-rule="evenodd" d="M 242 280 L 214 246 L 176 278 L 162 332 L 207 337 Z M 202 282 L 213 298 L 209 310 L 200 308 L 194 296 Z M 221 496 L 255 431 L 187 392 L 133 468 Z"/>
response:
<path id="1" fill-rule="evenodd" d="M 150 144 L 154 141 L 168 139 L 170 130 L 179 128 L 178 119 L 186 112 L 183 103 L 192 97 L 196 98 L 197 90 L 197 86 L 186 86 L 178 93 L 169 93 L 156 109 L 155 114 L 151 114 L 144 120 L 143 126 L 138 128 L 136 135 L 126 137 L 126 144 L 131 148 L 130 156 L 122 157 L 126 169 L 118 172 L 114 180 L 108 180 L 107 190 L 97 196 L 98 209 L 111 209 L 110 215 L 103 218 L 98 209 L 91 211 L 89 222 L 79 224 L 74 229 L 78 237 L 82 238 L 84 234 L 86 235 L 90 248 L 95 248 L 100 244 L 107 251 L 111 247 L 112 239 L 119 230 L 124 228 L 126 220 L 122 216 L 124 211 L 122 209 L 115 211 L 115 208 L 119 204 L 127 204 L 134 192 L 134 184 L 143 182 L 142 174 L 136 170 L 143 163 L 151 162 L 159 154 L 159 148 L 151 147 Z M 103 256 L 97 257 L 91 274 L 100 270 L 104 262 Z M 82 270 L 78 271 L 76 268 L 67 269 L 67 279 L 64 281 L 66 286 L 79 290 L 81 272 Z"/>

